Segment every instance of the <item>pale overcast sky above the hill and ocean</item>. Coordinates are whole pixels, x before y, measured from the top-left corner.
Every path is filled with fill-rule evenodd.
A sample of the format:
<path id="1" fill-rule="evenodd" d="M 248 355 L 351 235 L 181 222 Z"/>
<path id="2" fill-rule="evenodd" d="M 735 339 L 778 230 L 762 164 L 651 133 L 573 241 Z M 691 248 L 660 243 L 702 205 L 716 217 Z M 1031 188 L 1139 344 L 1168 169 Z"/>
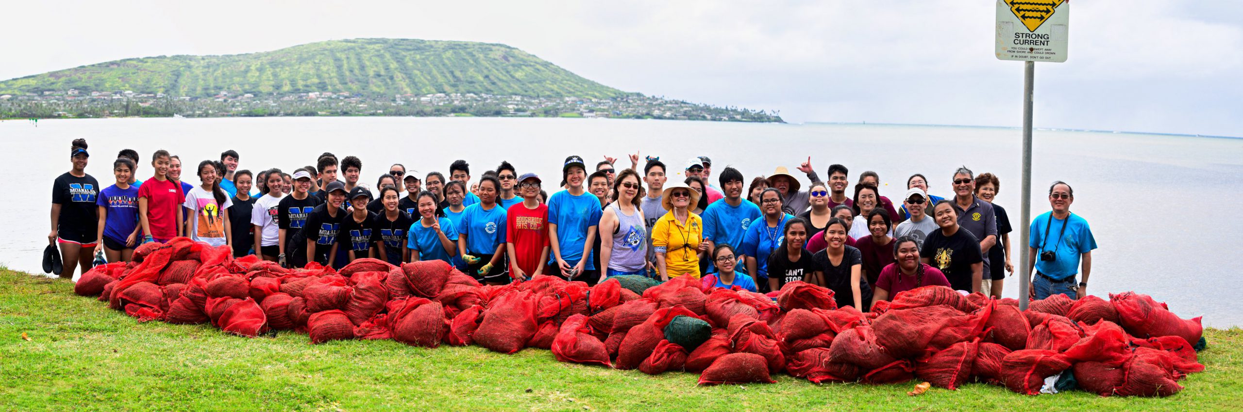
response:
<path id="1" fill-rule="evenodd" d="M 787 122 L 1021 125 L 994 2 L 17 1 L 0 78 L 159 55 L 393 37 L 506 43 L 628 92 Z M 1243 1 L 1074 1 L 1035 124 L 1243 137 Z"/>

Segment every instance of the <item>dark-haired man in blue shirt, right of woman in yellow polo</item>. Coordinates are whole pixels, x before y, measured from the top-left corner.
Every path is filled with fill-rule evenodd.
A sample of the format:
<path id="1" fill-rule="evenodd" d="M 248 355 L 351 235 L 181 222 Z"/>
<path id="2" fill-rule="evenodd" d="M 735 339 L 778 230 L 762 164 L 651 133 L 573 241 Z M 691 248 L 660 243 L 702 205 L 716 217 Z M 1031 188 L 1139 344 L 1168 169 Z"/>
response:
<path id="1" fill-rule="evenodd" d="M 742 199 L 742 191 L 746 187 L 746 184 L 742 182 L 742 172 L 727 166 L 721 170 L 718 179 L 725 197 L 707 205 L 707 208 L 704 210 L 704 240 L 709 242 L 710 251 L 715 251 L 717 244 L 741 247 L 747 227 L 762 216 L 759 206 Z M 740 256 L 740 258 L 742 257 Z M 712 263 L 709 264 L 706 273 L 716 272 Z"/>

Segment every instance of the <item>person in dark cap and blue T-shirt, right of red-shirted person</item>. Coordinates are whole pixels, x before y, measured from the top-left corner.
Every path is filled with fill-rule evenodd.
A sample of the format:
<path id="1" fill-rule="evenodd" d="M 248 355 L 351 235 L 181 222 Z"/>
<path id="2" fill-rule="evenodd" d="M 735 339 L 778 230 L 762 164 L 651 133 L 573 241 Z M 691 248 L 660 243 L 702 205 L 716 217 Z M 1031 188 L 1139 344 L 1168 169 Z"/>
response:
<path id="1" fill-rule="evenodd" d="M 566 279 L 595 279 L 592 244 L 600 225 L 600 200 L 583 189 L 587 165 L 583 158 L 566 158 L 562 179 L 567 189 L 548 197 L 548 241 L 552 258 L 548 273 Z"/>

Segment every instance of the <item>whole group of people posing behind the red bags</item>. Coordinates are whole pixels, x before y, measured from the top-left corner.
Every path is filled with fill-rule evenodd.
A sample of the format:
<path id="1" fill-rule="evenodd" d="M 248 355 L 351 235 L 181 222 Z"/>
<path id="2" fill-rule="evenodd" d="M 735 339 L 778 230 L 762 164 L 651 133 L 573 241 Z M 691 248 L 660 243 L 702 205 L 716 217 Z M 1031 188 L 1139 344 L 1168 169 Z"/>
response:
<path id="1" fill-rule="evenodd" d="M 802 280 L 864 311 L 922 285 L 1001 297 L 1014 271 L 1009 218 L 993 204 L 1001 182 L 967 168 L 953 171 L 952 196 L 929 194 L 929 179 L 914 174 L 895 204 L 880 194 L 876 172 L 851 185 L 834 164 L 822 180 L 810 158 L 797 168 L 812 181 L 805 189 L 783 166 L 747 184 L 731 166 L 713 180 L 706 156 L 669 169 L 653 156 L 640 166 L 639 154 L 624 170 L 605 156 L 592 172 L 568 156 L 547 187 L 507 161 L 472 182 L 465 160 L 449 165 L 447 179 L 394 164 L 369 186 L 357 156 L 324 153 L 313 166 L 252 174 L 237 170 L 234 150 L 200 161 L 191 185 L 165 150 L 149 159 L 152 176 L 137 180 L 132 149 L 112 161 L 114 184 L 99 189 L 86 174 L 83 139 L 70 159 L 52 186 L 47 237 L 60 247 L 61 277 L 89 269 L 96 253 L 128 261 L 138 244 L 178 236 L 286 267 L 440 259 L 487 284 L 638 274 L 767 293 Z M 1052 211 L 1030 222 L 1032 297 L 1083 297 L 1095 240 L 1070 212 L 1069 184 L 1054 182 L 1048 195 Z"/>

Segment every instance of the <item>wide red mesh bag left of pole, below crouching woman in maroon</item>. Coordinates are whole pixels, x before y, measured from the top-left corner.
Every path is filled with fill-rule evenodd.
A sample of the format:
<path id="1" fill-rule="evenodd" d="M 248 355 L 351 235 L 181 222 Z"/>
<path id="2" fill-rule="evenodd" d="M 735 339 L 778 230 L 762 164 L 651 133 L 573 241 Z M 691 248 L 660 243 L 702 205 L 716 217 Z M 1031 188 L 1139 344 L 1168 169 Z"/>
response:
<path id="1" fill-rule="evenodd" d="M 927 288 L 927 287 L 925 287 Z M 967 315 L 947 305 L 890 309 L 871 323 L 876 343 L 896 357 L 919 357 L 979 335 L 991 310 Z"/>

